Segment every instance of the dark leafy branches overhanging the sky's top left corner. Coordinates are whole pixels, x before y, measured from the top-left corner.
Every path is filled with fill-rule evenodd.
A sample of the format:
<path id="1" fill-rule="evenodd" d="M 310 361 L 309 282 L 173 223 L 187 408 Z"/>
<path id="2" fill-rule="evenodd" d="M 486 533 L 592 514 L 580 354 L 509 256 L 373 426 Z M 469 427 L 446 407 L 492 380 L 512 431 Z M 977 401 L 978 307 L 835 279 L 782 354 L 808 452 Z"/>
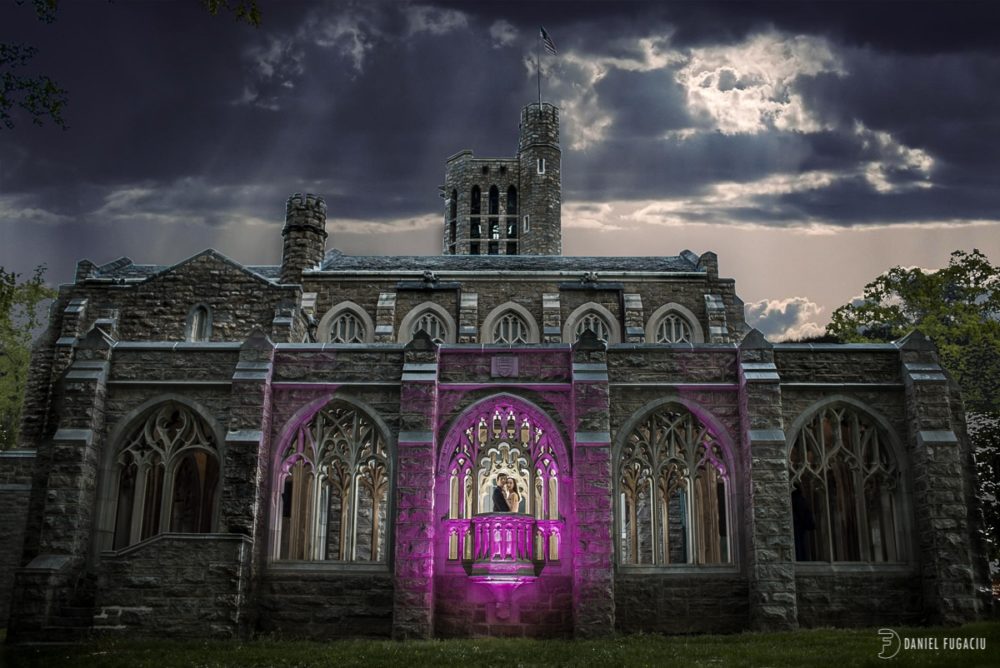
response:
<path id="1" fill-rule="evenodd" d="M 229 12 L 239 21 L 252 26 L 260 25 L 257 0 L 198 1 L 213 16 L 220 11 Z M 19 5 L 26 4 L 25 0 L 15 2 Z M 56 20 L 59 0 L 31 0 L 31 5 L 39 21 L 52 23 Z M 44 74 L 25 71 L 37 53 L 38 49 L 33 46 L 0 42 L 0 128 L 14 127 L 17 110 L 27 114 L 35 125 L 44 125 L 47 119 L 66 128 L 63 118 L 63 109 L 69 102 L 66 89 Z"/>

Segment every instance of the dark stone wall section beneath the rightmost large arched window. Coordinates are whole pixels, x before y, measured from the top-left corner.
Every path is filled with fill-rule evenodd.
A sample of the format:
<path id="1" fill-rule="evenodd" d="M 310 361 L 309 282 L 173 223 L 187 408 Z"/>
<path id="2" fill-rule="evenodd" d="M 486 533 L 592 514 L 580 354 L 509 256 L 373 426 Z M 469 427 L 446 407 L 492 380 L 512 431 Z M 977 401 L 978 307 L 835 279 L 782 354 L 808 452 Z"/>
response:
<path id="1" fill-rule="evenodd" d="M 892 567 L 798 564 L 799 625 L 891 626 L 926 620 L 920 574 Z"/>

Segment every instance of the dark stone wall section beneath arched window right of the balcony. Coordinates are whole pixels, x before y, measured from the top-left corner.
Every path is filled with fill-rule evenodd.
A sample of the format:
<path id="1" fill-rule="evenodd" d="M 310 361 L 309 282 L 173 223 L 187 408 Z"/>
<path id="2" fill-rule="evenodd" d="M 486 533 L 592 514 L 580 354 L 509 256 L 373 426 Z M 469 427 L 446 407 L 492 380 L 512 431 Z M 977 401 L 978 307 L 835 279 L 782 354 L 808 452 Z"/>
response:
<path id="1" fill-rule="evenodd" d="M 736 633 L 750 623 L 749 590 L 736 573 L 629 573 L 615 576 L 620 633 Z"/>

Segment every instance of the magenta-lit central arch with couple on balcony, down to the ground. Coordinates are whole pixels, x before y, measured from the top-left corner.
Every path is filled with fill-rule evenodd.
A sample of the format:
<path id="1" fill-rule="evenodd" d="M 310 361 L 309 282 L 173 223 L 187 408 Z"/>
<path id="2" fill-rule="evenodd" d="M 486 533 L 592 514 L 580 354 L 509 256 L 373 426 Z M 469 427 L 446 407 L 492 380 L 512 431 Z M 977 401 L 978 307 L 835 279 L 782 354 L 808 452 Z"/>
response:
<path id="1" fill-rule="evenodd" d="M 458 416 L 435 476 L 438 635 L 568 635 L 572 476 L 565 440 L 509 394 Z"/>

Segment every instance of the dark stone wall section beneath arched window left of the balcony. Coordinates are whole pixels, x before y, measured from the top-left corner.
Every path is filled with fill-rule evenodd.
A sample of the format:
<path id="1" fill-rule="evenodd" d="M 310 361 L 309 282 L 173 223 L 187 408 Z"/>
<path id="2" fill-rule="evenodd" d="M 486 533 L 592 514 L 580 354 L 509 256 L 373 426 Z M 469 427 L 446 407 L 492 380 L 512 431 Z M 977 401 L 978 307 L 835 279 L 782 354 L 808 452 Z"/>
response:
<path id="1" fill-rule="evenodd" d="M 262 574 L 258 631 L 316 640 L 392 634 L 393 586 L 388 569 L 301 566 L 274 566 Z"/>

